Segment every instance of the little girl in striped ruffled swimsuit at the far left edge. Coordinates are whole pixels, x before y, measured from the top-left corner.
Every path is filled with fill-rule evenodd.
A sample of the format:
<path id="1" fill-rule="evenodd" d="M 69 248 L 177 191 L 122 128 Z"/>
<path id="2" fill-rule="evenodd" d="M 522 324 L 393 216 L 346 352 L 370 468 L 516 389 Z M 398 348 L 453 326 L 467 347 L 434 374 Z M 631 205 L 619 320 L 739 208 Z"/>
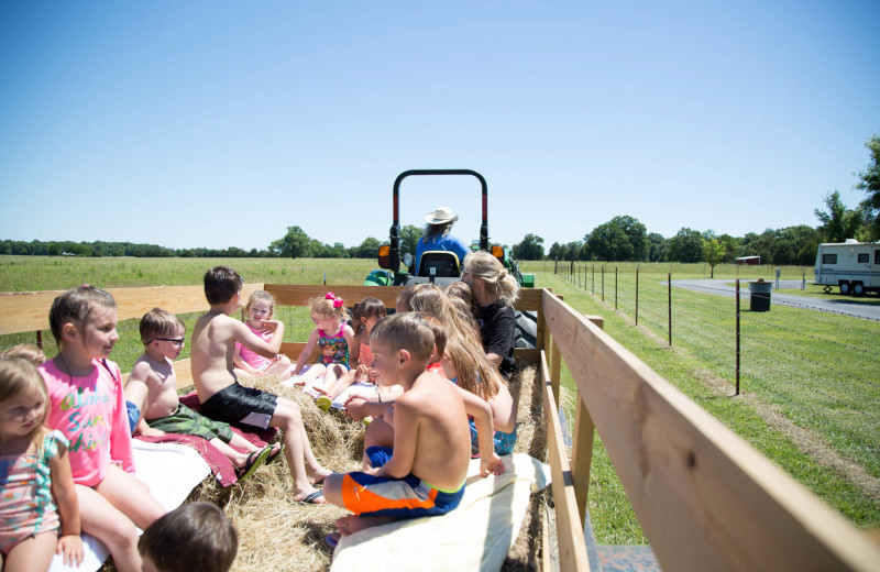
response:
<path id="1" fill-rule="evenodd" d="M 67 565 L 82 562 L 68 442 L 43 426 L 47 414 L 48 394 L 36 366 L 23 358 L 0 360 L 0 568 L 6 571 L 48 570 L 55 552 Z"/>

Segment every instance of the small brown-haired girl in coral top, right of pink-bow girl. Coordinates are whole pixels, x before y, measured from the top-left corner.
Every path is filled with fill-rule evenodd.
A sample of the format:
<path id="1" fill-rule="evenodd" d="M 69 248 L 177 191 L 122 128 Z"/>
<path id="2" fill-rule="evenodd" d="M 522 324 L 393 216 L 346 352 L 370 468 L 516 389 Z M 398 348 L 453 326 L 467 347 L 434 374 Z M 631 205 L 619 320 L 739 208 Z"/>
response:
<path id="1" fill-rule="evenodd" d="M 320 409 L 328 410 L 333 399 L 342 395 L 353 384 L 366 385 L 376 383 L 376 372 L 372 369 L 373 354 L 370 352 L 370 332 L 373 330 L 373 326 L 387 314 L 385 305 L 377 298 L 364 298 L 360 304 L 354 305 L 354 324 L 358 332 L 352 339 L 349 363 L 356 363 L 358 369 L 349 370 L 334 383 L 328 384 L 324 381 L 324 395 L 315 400 Z"/>

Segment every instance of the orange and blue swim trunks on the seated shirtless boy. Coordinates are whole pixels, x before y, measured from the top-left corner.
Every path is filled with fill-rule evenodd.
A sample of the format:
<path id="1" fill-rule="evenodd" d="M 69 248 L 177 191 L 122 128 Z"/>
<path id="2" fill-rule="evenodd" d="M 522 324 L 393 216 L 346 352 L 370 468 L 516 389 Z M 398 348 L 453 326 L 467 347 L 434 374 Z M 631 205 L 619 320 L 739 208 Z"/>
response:
<path id="1" fill-rule="evenodd" d="M 371 447 L 366 450 L 373 466 L 382 466 L 392 457 L 392 449 Z M 444 515 L 459 506 L 464 483 L 458 491 L 443 491 L 417 476 L 386 479 L 366 473 L 348 473 L 342 477 L 342 499 L 355 515 L 419 518 Z"/>

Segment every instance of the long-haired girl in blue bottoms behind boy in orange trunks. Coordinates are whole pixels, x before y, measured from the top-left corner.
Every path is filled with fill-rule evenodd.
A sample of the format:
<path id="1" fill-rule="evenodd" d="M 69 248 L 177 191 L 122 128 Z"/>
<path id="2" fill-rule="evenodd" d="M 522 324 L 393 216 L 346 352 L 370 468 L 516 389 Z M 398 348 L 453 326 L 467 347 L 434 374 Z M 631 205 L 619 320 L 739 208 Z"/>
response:
<path id="1" fill-rule="evenodd" d="M 482 352 L 473 328 L 433 284 L 419 284 L 413 290 L 409 310 L 437 316 L 447 329 L 447 345 L 440 361 L 446 377 L 488 403 L 495 429 L 495 452 L 499 455 L 512 453 L 516 444 L 516 404 L 498 370 Z M 476 446 L 476 428 L 473 422 L 471 438 Z"/>

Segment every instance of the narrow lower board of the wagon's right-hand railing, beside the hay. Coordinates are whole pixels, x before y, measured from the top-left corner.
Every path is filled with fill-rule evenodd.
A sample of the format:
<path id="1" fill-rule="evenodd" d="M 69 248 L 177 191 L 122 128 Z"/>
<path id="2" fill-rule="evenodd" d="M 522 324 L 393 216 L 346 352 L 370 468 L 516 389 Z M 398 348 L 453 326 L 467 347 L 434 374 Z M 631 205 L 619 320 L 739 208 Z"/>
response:
<path id="1" fill-rule="evenodd" d="M 542 352 L 543 353 L 543 352 Z M 578 499 L 571 482 L 571 469 L 562 427 L 559 424 L 559 409 L 550 387 L 552 378 L 547 371 L 547 354 L 541 356 L 543 384 L 543 415 L 547 424 L 547 450 L 550 457 L 550 472 L 553 477 L 553 504 L 557 510 L 557 542 L 560 570 L 590 570 L 584 541 L 584 521 L 578 512 Z"/>

